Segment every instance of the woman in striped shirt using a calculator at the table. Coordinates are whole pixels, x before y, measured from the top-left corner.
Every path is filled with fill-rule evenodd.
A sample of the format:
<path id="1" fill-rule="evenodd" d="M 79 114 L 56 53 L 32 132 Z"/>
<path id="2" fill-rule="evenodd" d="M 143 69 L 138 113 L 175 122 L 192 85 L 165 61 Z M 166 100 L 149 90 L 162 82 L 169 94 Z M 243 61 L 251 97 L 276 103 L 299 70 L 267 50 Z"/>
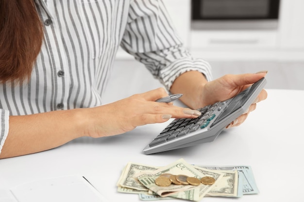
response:
<path id="1" fill-rule="evenodd" d="M 154 102 L 165 89 L 102 105 L 119 46 L 170 93 L 183 93 L 189 109 Z M 0 158 L 195 118 L 193 109 L 231 98 L 267 73 L 211 81 L 210 71 L 183 47 L 161 0 L 1 0 Z M 266 97 L 263 90 L 256 102 Z M 255 103 L 227 127 L 244 122 Z"/>

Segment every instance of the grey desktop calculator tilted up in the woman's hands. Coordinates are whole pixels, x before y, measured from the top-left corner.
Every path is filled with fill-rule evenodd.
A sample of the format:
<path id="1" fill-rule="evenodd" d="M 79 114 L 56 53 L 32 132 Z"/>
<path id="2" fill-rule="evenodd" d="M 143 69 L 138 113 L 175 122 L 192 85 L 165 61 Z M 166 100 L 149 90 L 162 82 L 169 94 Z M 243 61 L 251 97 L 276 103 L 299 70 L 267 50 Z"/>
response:
<path id="1" fill-rule="evenodd" d="M 197 118 L 174 119 L 143 150 L 145 155 L 214 141 L 220 132 L 253 103 L 266 85 L 261 78 L 233 98 L 197 109 Z"/>

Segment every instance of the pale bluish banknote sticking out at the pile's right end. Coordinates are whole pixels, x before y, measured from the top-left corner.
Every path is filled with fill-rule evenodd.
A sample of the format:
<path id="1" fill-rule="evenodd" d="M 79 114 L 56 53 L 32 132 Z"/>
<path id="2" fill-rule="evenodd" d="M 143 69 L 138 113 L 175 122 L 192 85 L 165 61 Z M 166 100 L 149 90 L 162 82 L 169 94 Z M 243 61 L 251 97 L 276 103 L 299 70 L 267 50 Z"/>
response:
<path id="1" fill-rule="evenodd" d="M 242 187 L 243 194 L 258 194 L 259 190 L 256 186 L 255 179 L 253 176 L 253 170 L 250 166 L 203 166 L 197 165 L 198 167 L 205 168 L 208 170 L 218 171 L 237 171 L 239 176 L 238 185 L 239 189 Z M 240 193 L 240 191 L 239 191 Z M 240 194 L 238 194 L 240 195 Z M 240 195 L 241 196 L 241 195 Z"/>

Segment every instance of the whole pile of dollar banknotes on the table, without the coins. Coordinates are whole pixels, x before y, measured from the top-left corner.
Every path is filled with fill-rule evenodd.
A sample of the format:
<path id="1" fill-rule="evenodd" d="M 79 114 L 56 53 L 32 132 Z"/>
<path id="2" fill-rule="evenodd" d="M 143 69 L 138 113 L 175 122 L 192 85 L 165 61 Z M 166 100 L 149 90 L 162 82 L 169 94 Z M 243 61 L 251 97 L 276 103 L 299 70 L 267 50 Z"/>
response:
<path id="1" fill-rule="evenodd" d="M 174 185 L 174 189 L 156 186 L 155 179 L 163 173 L 186 174 L 199 179 L 209 176 L 216 179 L 216 183 L 212 186 Z M 241 197 L 258 193 L 250 166 L 190 165 L 184 159 L 164 167 L 129 162 L 122 170 L 117 186 L 118 192 L 138 194 L 143 201 L 172 198 L 200 201 L 204 196 Z"/>

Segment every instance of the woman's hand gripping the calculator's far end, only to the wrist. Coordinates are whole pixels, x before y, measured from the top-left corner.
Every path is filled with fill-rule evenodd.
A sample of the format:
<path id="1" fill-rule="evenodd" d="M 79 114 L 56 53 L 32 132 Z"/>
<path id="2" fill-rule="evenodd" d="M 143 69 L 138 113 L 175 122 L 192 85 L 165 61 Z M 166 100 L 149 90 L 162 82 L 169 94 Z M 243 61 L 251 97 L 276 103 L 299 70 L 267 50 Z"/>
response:
<path id="1" fill-rule="evenodd" d="M 236 94 L 251 86 L 260 78 L 265 77 L 266 71 L 256 74 L 242 74 L 242 75 L 225 75 L 216 80 L 210 81 L 203 86 L 203 105 L 213 104 L 218 101 L 224 101 L 232 98 Z M 238 126 L 242 124 L 249 113 L 256 108 L 256 103 L 267 98 L 267 92 L 263 89 L 256 97 L 253 104 L 249 107 L 246 113 L 242 114 L 232 123 L 227 125 L 227 128 Z"/>

